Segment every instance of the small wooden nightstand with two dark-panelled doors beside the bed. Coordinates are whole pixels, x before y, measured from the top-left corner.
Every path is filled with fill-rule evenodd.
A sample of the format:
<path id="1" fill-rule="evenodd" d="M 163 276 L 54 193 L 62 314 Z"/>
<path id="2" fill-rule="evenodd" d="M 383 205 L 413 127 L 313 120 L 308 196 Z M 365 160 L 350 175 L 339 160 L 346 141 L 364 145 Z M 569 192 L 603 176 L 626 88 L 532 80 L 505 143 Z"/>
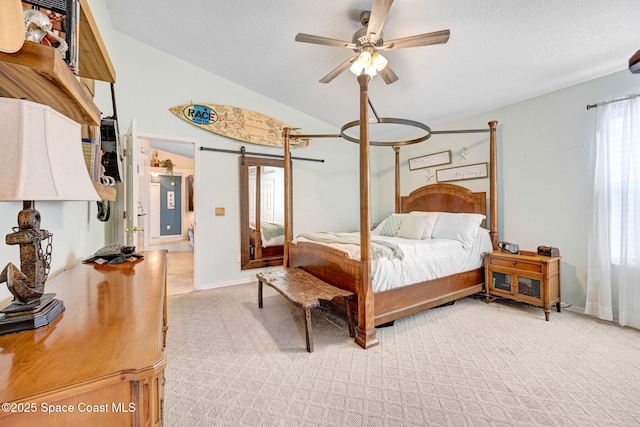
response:
<path id="1" fill-rule="evenodd" d="M 485 295 L 526 302 L 544 308 L 549 320 L 551 306 L 560 312 L 560 259 L 535 252 L 520 251 L 512 255 L 501 251 L 487 252 L 484 257 Z"/>

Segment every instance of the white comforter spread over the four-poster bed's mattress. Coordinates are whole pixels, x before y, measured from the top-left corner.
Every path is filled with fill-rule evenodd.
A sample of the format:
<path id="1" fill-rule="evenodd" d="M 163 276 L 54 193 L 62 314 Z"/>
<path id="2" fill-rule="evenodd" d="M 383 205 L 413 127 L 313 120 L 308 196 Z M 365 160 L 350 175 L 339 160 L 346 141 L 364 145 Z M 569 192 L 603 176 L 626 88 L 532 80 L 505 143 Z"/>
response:
<path id="1" fill-rule="evenodd" d="M 372 239 L 393 242 L 404 253 L 402 260 L 380 258 L 372 261 L 371 283 L 374 292 L 384 292 L 475 270 L 482 267 L 485 252 L 493 250 L 489 230 L 482 227 L 478 227 L 476 239 L 469 249 L 465 249 L 461 242 L 451 239 L 411 240 L 380 235 L 372 236 Z M 307 240 L 298 238 L 295 241 Z M 335 244 L 330 246 L 346 252 L 350 258 L 360 259 L 359 245 Z"/>

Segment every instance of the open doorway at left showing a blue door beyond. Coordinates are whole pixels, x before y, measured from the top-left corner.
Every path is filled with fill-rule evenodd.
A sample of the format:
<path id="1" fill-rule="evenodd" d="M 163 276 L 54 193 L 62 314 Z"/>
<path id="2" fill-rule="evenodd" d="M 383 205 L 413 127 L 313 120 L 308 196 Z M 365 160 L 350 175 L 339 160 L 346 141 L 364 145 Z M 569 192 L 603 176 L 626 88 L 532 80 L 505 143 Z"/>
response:
<path id="1" fill-rule="evenodd" d="M 135 128 L 135 126 L 134 126 Z M 137 154 L 135 241 L 145 251 L 167 250 L 167 294 L 196 289 L 199 280 L 196 245 L 198 141 L 139 132 L 131 135 Z M 170 160 L 170 161 L 167 161 Z M 134 175 L 134 174 L 132 174 Z"/>

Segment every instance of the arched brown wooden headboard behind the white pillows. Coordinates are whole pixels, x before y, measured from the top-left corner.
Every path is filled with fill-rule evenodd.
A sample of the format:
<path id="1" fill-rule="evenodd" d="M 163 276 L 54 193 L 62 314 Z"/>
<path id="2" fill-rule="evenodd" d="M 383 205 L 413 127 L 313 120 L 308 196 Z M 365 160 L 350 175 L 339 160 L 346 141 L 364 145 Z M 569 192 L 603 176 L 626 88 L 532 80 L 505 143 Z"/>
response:
<path id="1" fill-rule="evenodd" d="M 400 197 L 400 212 L 454 212 L 487 215 L 487 194 L 453 184 L 430 184 Z"/>

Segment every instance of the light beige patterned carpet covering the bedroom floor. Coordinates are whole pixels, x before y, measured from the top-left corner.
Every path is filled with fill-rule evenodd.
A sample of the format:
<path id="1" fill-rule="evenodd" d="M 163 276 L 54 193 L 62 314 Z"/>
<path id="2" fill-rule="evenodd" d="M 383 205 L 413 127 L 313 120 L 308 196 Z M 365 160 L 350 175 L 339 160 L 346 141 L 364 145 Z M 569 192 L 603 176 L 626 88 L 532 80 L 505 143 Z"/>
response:
<path id="1" fill-rule="evenodd" d="M 640 331 L 469 297 L 378 330 L 257 284 L 169 298 L 166 426 L 640 426 Z"/>

